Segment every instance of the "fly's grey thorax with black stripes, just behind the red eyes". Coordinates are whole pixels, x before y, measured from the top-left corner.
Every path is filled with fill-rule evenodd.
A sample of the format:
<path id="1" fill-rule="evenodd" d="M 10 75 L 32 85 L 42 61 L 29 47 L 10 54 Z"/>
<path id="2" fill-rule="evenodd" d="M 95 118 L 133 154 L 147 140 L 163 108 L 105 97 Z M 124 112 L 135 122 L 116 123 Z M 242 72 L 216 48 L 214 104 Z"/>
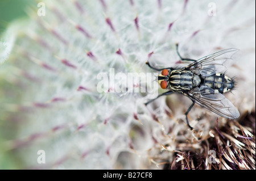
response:
<path id="1" fill-rule="evenodd" d="M 170 89 L 183 92 L 200 85 L 201 79 L 199 75 L 193 74 L 192 71 L 179 69 L 171 71 L 169 81 Z"/>

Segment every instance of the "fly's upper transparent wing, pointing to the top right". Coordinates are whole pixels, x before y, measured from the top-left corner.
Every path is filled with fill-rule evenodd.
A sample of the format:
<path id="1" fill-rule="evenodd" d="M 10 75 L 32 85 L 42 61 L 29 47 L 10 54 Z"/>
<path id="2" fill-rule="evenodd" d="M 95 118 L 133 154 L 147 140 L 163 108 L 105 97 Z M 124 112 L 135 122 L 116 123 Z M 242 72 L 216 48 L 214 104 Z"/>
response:
<path id="1" fill-rule="evenodd" d="M 239 50 L 236 48 L 229 48 L 210 54 L 206 57 L 189 64 L 186 69 L 191 70 L 195 74 L 201 74 L 208 77 L 214 73 L 221 73 L 225 71 L 228 66 L 232 65 L 232 56 Z"/>

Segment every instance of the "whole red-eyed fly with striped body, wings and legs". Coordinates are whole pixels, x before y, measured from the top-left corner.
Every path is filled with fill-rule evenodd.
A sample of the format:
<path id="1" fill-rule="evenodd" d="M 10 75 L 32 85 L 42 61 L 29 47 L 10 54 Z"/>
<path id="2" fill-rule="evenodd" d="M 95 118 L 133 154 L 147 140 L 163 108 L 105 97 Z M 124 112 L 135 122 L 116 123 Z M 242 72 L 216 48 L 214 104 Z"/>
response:
<path id="1" fill-rule="evenodd" d="M 162 89 L 168 90 L 158 95 L 155 99 L 173 93 L 180 93 L 190 98 L 192 104 L 185 112 L 185 116 L 188 127 L 191 129 L 193 128 L 188 122 L 188 112 L 195 103 L 222 117 L 228 119 L 238 118 L 240 116 L 239 111 L 223 95 L 233 89 L 234 81 L 225 74 L 220 73 L 232 64 L 232 56 L 238 52 L 238 49 L 224 49 L 199 60 L 181 57 L 178 51 L 178 44 L 176 44 L 176 50 L 181 61 L 192 61 L 192 63 L 181 69 L 158 69 L 146 62 L 151 69 L 162 71 L 158 75 L 158 83 Z M 155 99 L 145 103 L 146 106 Z"/>

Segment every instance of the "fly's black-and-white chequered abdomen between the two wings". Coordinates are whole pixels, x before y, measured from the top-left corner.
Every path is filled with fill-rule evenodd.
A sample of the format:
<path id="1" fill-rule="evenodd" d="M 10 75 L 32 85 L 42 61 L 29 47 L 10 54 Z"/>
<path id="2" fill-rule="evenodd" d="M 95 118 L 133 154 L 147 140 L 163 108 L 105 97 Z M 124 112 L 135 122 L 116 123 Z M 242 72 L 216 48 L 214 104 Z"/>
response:
<path id="1" fill-rule="evenodd" d="M 234 81 L 225 74 L 216 73 L 208 77 L 202 77 L 202 84 L 214 89 L 214 92 L 221 94 L 233 89 Z"/>

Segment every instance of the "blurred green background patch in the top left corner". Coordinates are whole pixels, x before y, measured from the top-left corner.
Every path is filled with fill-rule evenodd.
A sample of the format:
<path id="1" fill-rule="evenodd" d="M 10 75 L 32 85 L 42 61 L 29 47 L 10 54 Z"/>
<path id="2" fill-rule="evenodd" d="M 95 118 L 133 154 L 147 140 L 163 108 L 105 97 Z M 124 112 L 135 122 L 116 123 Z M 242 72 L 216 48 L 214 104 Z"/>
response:
<path id="1" fill-rule="evenodd" d="M 33 2 L 32 0 L 0 0 L 0 35 L 11 21 L 26 17 L 26 7 Z"/>

